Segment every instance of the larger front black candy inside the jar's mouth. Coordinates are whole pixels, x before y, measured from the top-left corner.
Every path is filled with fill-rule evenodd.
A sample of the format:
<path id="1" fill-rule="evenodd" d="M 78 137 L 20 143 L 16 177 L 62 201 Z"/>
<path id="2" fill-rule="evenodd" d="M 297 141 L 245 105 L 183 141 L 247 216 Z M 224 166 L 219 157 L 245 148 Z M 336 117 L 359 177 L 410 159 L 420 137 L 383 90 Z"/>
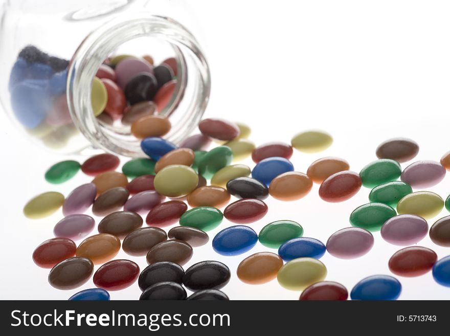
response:
<path id="1" fill-rule="evenodd" d="M 150 73 L 140 73 L 125 86 L 125 97 L 130 105 L 141 101 L 152 100 L 158 91 L 158 82 L 155 76 Z"/>

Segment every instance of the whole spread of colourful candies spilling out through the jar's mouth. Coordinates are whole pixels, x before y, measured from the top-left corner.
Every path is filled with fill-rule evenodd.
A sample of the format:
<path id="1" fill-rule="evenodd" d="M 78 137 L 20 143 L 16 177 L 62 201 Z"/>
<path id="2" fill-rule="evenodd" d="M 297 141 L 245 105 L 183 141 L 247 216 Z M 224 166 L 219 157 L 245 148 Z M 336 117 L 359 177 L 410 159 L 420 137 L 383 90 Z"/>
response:
<path id="1" fill-rule="evenodd" d="M 199 133 L 177 146 L 162 138 L 171 125 L 158 114 L 173 92 L 167 87 L 174 83 L 176 68 L 165 63 L 157 75 L 158 66 L 149 64 L 149 57 L 113 57 L 99 69 L 92 92 L 99 118 L 131 125 L 147 157 L 129 160 L 119 171 L 120 158 L 109 153 L 83 163 L 56 163 L 45 174 L 48 182 L 64 183 L 81 170 L 86 184 L 66 196 L 42 193 L 24 208 L 27 217 L 43 218 L 62 207 L 64 218 L 54 227 L 55 238 L 33 253 L 38 266 L 51 268 L 48 280 L 53 287 L 74 289 L 93 276 L 97 288 L 71 300 L 108 300 L 108 292 L 136 281 L 141 300 L 228 300 L 221 289 L 236 276 L 249 285 L 277 279 L 282 287 L 301 292 L 300 300 L 347 300 L 348 290 L 339 279 L 325 281 L 327 268 L 320 259 L 325 253 L 338 259 L 364 257 L 375 243 L 375 231 L 402 248 L 386 260 L 392 275 L 371 275 L 368 266 L 368 277 L 354 284 L 351 299 L 395 300 L 401 293 L 397 277 L 430 271 L 438 284 L 450 286 L 450 256 L 438 260 L 433 250 L 416 245 L 428 234 L 436 245 L 450 247 L 450 216 L 430 228 L 428 223 L 444 206 L 450 211 L 450 196 L 444 201 L 426 191 L 450 170 L 450 152 L 440 162 L 413 162 L 402 170 L 400 163 L 413 160 L 419 146 L 397 138 L 380 144 L 375 151 L 378 160 L 359 172 L 351 171 L 344 159 L 325 157 L 303 173 L 289 160 L 294 149 L 320 152 L 332 144 L 327 133 L 303 131 L 291 144 L 255 146 L 247 139 L 248 126 L 212 118 L 202 120 Z M 249 156 L 253 167 L 237 163 Z M 304 236 L 308 223 L 300 225 L 296 218 L 280 214 L 280 220 L 264 222 L 269 211 L 266 198 L 297 207 L 296 200 L 308 195 L 313 183 L 320 188 L 318 195 L 310 196 L 323 200 L 321 211 L 327 211 L 327 203 L 348 200 L 362 187 L 371 192 L 368 203 L 349 214 L 349 226 L 326 242 Z M 93 216 L 85 214 L 89 210 Z M 232 226 L 224 225 L 226 221 Z M 214 261 L 214 254 L 185 270 L 195 248 L 210 243 L 208 231 L 219 226 L 223 230 L 211 237 L 214 253 L 239 258 L 256 244 L 266 251 L 241 260 L 235 275 L 226 264 Z M 95 228 L 98 233 L 91 235 Z M 149 265 L 141 271 L 131 260 L 114 259 L 120 249 L 146 258 Z M 193 294 L 188 296 L 186 288 Z"/>

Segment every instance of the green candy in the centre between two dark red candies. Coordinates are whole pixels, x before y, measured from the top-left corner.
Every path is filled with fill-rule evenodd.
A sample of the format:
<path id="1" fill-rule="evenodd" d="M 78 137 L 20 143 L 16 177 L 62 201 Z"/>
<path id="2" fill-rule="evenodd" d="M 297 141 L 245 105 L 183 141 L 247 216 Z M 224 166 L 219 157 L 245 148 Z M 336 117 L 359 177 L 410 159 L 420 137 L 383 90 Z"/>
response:
<path id="1" fill-rule="evenodd" d="M 186 211 L 179 219 L 179 225 L 194 227 L 203 231 L 215 229 L 222 222 L 223 214 L 213 207 L 196 207 Z"/>

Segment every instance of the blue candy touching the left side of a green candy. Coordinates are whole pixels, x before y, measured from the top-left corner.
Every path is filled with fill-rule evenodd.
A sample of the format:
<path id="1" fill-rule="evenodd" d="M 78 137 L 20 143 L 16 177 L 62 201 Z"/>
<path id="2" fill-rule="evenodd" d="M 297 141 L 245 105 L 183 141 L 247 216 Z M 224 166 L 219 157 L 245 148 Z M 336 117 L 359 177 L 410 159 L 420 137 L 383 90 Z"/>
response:
<path id="1" fill-rule="evenodd" d="M 213 239 L 213 249 L 223 256 L 237 256 L 250 251 L 258 241 L 256 232 L 244 225 L 223 229 Z"/>

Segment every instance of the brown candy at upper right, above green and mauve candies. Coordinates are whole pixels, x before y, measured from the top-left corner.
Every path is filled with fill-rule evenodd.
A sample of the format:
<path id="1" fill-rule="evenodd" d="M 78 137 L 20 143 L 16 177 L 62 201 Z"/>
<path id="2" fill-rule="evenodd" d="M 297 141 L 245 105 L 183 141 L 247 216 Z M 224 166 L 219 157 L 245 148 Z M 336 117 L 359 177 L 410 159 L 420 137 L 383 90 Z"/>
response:
<path id="1" fill-rule="evenodd" d="M 419 145 L 406 138 L 394 138 L 381 143 L 376 149 L 378 159 L 391 159 L 403 163 L 413 159 L 419 152 Z"/>

